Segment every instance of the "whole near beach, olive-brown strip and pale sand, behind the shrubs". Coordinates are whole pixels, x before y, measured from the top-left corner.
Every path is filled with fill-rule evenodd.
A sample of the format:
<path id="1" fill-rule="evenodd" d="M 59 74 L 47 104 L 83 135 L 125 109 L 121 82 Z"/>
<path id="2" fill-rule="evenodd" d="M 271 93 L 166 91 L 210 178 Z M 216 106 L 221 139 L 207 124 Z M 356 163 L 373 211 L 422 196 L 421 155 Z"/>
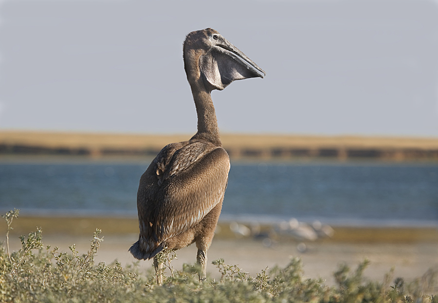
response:
<path id="1" fill-rule="evenodd" d="M 303 263 L 304 277 L 321 278 L 328 285 L 335 283 L 333 273 L 339 265 L 347 264 L 354 270 L 365 259 L 370 265 L 364 276 L 380 282 L 391 268 L 394 268 L 393 279 L 403 277 L 406 281 L 420 278 L 429 268 L 438 268 L 436 227 L 334 227 L 331 238 L 302 242 L 279 237 L 272 239 L 267 246 L 262 238 L 238 238 L 227 231 L 228 225 L 228 222 L 220 222 L 221 232 L 208 250 L 207 272 L 215 279 L 220 274 L 211 261 L 219 258 L 224 259 L 225 264 L 239 265 L 256 276 L 266 267 L 284 267 L 291 258 L 298 257 Z M 104 241 L 97 252 L 96 262 L 110 264 L 117 260 L 125 266 L 135 261 L 128 252 L 138 239 L 135 218 L 19 217 L 13 222 L 10 248 L 19 249 L 18 236 L 36 230 L 36 226 L 43 229 L 44 246 L 58 246 L 59 251 L 70 251 L 68 246 L 75 244 L 79 253 L 87 252 L 92 232 L 99 227 Z M 2 223 L 0 227 L 5 230 L 6 225 Z M 304 250 L 302 243 L 306 247 Z M 195 245 L 178 250 L 178 260 L 172 261 L 172 266 L 182 269 L 183 263 L 194 264 L 196 251 Z M 140 262 L 141 271 L 151 268 L 152 261 Z"/>

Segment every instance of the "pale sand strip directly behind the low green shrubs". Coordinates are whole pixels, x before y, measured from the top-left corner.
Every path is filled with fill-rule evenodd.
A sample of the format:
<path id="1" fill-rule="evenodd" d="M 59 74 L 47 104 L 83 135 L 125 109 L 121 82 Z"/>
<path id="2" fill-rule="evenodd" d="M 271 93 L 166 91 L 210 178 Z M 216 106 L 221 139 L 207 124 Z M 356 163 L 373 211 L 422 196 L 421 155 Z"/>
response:
<path id="1" fill-rule="evenodd" d="M 134 259 L 128 252 L 129 246 L 137 240 L 134 233 L 106 234 L 102 232 L 104 242 L 97 253 L 96 261 L 110 264 L 118 260 L 123 265 Z M 76 244 L 79 253 L 85 253 L 90 246 L 90 236 L 48 233 L 43 244 L 60 247 L 60 251 L 69 251 L 68 246 Z M 208 272 L 211 277 L 219 278 L 219 272 L 211 261 L 223 258 L 226 264 L 238 264 L 242 269 L 256 276 L 266 266 L 285 266 L 291 257 L 300 257 L 304 264 L 305 277 L 323 278 L 327 284 L 334 284 L 333 272 L 339 264 L 346 263 L 355 268 L 365 258 L 371 261 L 365 270 L 365 277 L 383 281 L 384 274 L 395 268 L 394 278 L 403 277 L 412 280 L 424 274 L 428 268 L 438 268 L 438 242 L 435 240 L 418 241 L 334 241 L 321 240 L 306 242 L 307 250 L 299 252 L 299 242 L 282 239 L 267 247 L 262 241 L 251 238 L 231 239 L 217 237 L 208 251 Z M 11 235 L 11 249 L 19 248 L 16 234 Z M 183 263 L 193 264 L 196 259 L 196 246 L 192 245 L 178 251 L 178 260 L 172 262 L 176 269 Z M 152 261 L 142 261 L 142 270 L 151 268 Z"/>

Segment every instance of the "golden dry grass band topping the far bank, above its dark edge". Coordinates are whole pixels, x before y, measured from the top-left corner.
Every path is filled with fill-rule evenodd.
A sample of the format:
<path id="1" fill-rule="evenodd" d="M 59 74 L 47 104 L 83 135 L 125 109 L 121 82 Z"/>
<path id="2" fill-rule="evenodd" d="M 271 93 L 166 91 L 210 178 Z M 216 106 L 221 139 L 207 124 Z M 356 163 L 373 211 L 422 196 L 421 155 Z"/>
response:
<path id="1" fill-rule="evenodd" d="M 192 134 L 154 135 L 129 133 L 56 133 L 0 131 L 0 143 L 67 148 L 156 148 L 171 142 L 188 140 Z M 371 136 L 310 136 L 279 134 L 230 134 L 221 135 L 225 147 L 274 148 L 274 147 L 352 147 L 352 148 L 416 148 L 438 149 L 438 138 L 371 137 Z"/>

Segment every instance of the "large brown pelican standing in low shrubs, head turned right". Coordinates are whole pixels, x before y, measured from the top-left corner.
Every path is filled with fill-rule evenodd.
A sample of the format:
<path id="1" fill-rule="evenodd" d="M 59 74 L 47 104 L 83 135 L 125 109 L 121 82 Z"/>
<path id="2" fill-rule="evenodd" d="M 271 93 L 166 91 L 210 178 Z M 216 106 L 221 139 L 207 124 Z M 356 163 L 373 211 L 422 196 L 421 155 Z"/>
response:
<path id="1" fill-rule="evenodd" d="M 137 192 L 140 236 L 129 251 L 139 260 L 154 258 L 158 271 L 156 254 L 165 246 L 176 250 L 196 243 L 204 280 L 230 170 L 211 91 L 234 80 L 263 78 L 265 72 L 211 28 L 187 35 L 183 58 L 198 132 L 188 141 L 166 145 L 142 175 Z"/>

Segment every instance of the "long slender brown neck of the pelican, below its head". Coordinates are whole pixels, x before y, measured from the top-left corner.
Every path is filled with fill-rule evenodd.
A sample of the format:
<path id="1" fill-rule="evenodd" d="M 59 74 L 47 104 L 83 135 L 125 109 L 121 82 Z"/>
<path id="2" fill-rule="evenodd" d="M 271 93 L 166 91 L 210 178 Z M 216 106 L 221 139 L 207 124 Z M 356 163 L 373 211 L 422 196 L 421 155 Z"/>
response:
<path id="1" fill-rule="evenodd" d="M 198 114 L 198 133 L 192 139 L 208 140 L 217 146 L 220 142 L 218 120 L 216 119 L 215 107 L 211 94 L 205 89 L 201 79 L 190 83 L 193 99 L 195 100 L 196 113 Z"/>

